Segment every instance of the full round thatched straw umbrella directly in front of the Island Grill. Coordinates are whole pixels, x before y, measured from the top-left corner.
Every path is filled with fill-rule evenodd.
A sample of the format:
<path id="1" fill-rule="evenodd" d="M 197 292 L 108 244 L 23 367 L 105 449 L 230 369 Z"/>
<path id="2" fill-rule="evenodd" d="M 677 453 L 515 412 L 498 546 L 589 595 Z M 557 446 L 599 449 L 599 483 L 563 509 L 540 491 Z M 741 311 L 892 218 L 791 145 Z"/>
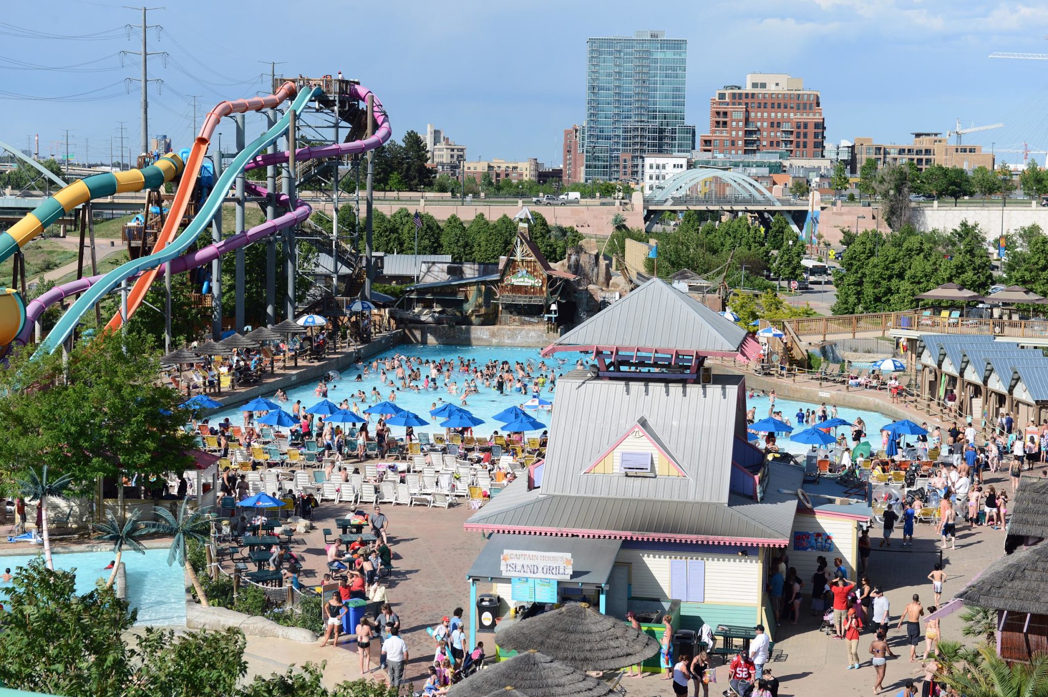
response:
<path id="1" fill-rule="evenodd" d="M 564 607 L 499 631 L 499 646 L 536 649 L 581 671 L 610 671 L 641 664 L 658 653 L 654 637 L 601 614 L 588 603 Z"/>

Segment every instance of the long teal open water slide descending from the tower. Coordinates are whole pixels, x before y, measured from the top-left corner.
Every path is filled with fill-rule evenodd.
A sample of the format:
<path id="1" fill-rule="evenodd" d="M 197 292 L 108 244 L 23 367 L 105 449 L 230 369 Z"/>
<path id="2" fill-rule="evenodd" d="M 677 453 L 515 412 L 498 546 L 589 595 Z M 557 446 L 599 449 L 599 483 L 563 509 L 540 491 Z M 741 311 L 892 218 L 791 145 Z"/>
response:
<path id="1" fill-rule="evenodd" d="M 200 235 L 200 232 L 211 223 L 212 219 L 219 215 L 222 209 L 222 202 L 225 200 L 226 194 L 230 192 L 230 187 L 233 185 L 234 180 L 243 172 L 244 166 L 252 161 L 257 155 L 259 155 L 263 150 L 276 142 L 277 138 L 284 135 L 290 123 L 290 113 L 293 111 L 296 115 L 302 113 L 306 105 L 310 99 L 313 99 L 316 95 L 321 94 L 323 90 L 319 87 L 314 87 L 310 90 L 304 90 L 299 93 L 291 103 L 291 107 L 284 114 L 277 123 L 266 131 L 264 134 L 253 140 L 246 148 L 237 153 L 237 156 L 233 159 L 233 162 L 222 171 L 222 176 L 219 177 L 218 182 L 215 184 L 215 188 L 212 189 L 211 196 L 204 201 L 203 205 L 200 207 L 199 212 L 193 219 L 187 227 L 185 230 L 178 235 L 175 240 L 171 242 L 163 249 L 149 254 L 148 256 L 140 256 L 136 260 L 130 261 L 127 264 L 116 267 L 109 273 L 107 273 L 101 280 L 91 286 L 87 291 L 85 291 L 72 303 L 72 307 L 66 311 L 64 315 L 59 319 L 54 329 L 50 331 L 41 343 L 40 347 L 37 350 L 37 354 L 41 353 L 54 353 L 63 342 L 69 336 L 72 335 L 73 330 L 80 322 L 80 318 L 84 316 L 85 313 L 94 307 L 104 295 L 112 291 L 114 288 L 124 283 L 125 279 L 131 278 L 137 273 L 145 271 L 147 269 L 152 269 L 159 267 L 166 262 L 170 262 L 177 256 L 185 253 L 190 245 L 196 242 L 196 239 Z"/>

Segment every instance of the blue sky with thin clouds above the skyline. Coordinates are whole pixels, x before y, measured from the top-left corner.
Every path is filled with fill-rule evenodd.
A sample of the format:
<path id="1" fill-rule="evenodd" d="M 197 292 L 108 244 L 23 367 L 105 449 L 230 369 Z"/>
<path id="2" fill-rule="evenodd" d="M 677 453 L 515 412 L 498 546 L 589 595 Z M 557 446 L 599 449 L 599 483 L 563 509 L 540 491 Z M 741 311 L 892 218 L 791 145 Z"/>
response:
<path id="1" fill-rule="evenodd" d="M 0 139 L 24 147 L 40 134 L 41 152 L 70 129 L 70 151 L 108 159 L 117 120 L 137 148 L 137 77 L 129 58 L 137 50 L 126 23 L 140 15 L 116 0 L 38 0 L 9 3 L 0 25 L 0 90 L 30 96 L 109 96 L 90 102 L 38 102 L 0 94 Z M 158 3 L 159 4 L 159 3 Z M 905 142 L 912 131 L 947 131 L 960 117 L 1003 121 L 966 142 L 1000 149 L 1048 150 L 1048 61 L 1004 61 L 991 51 L 1048 53 L 1048 5 L 1005 2 L 892 0 L 750 0 L 738 2 L 634 1 L 592 3 L 473 0 L 380 3 L 299 0 L 250 3 L 175 0 L 150 13 L 163 25 L 150 32 L 150 49 L 168 51 L 167 67 L 151 59 L 151 77 L 165 85 L 153 95 L 150 131 L 189 142 L 192 98 L 198 119 L 222 97 L 253 95 L 268 71 L 323 74 L 342 70 L 384 100 L 397 138 L 427 122 L 467 145 L 471 159 L 538 157 L 560 164 L 563 130 L 583 117 L 586 39 L 664 29 L 689 40 L 687 120 L 707 128 L 708 98 L 747 72 L 789 72 L 822 90 L 828 139 L 869 135 Z M 293 29 L 285 28 L 291 8 Z M 249 12 L 248 12 L 249 10 Z M 24 38 L 44 35 L 102 40 Z M 111 30 L 111 31 L 110 31 Z M 106 33 L 108 31 L 108 33 Z M 13 63 L 21 61 L 23 63 Z M 87 63 L 90 62 L 90 63 Z M 28 65 L 26 65 L 28 64 Z M 34 66 L 94 72 L 59 72 Z M 252 119 L 261 126 L 261 119 Z M 228 131 L 226 130 L 226 133 Z M 228 138 L 228 135 L 224 136 Z M 87 141 L 87 142 L 85 142 Z M 228 142 L 228 140 L 226 140 Z M 64 144 L 62 145 L 64 149 Z M 224 148 L 223 148 L 224 149 Z M 1018 161 L 1022 155 L 1005 155 Z"/>

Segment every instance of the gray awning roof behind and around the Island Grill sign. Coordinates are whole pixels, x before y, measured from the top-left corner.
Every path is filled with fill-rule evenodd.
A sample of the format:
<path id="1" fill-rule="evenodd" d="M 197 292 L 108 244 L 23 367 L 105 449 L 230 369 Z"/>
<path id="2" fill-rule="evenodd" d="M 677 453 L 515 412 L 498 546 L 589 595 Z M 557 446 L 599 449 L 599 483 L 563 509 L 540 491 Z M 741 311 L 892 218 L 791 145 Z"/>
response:
<path id="1" fill-rule="evenodd" d="M 505 549 L 527 552 L 562 552 L 571 555 L 571 583 L 605 584 L 615 564 L 615 555 L 621 540 L 591 540 L 581 537 L 551 537 L 539 535 L 493 535 L 480 550 L 466 578 L 500 579 L 502 553 Z"/>

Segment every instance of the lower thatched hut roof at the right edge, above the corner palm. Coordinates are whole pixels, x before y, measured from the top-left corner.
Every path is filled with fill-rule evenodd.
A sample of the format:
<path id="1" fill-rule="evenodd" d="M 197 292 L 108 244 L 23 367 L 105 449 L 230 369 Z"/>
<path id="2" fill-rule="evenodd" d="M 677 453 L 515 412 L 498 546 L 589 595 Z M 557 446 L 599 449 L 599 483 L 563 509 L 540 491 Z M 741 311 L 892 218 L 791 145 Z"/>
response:
<path id="1" fill-rule="evenodd" d="M 994 562 L 957 598 L 965 605 L 1048 615 L 1046 579 L 1048 544 L 1042 543 Z"/>

